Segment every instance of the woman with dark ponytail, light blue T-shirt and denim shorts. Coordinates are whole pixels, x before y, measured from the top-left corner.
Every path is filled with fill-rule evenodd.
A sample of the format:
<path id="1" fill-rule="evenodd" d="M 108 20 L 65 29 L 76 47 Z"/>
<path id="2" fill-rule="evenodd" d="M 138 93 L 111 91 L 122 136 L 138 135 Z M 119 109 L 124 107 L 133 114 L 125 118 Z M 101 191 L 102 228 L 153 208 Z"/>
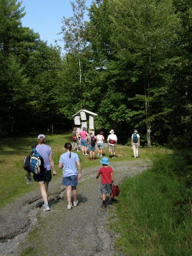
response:
<path id="1" fill-rule="evenodd" d="M 73 153 L 71 143 L 66 143 L 64 148 L 66 153 L 62 154 L 59 159 L 59 168 L 62 169 L 62 184 L 66 186 L 68 200 L 67 209 L 78 205 L 77 184 L 81 178 L 81 164 L 77 153 Z M 71 202 L 71 191 L 73 193 L 73 206 Z"/>

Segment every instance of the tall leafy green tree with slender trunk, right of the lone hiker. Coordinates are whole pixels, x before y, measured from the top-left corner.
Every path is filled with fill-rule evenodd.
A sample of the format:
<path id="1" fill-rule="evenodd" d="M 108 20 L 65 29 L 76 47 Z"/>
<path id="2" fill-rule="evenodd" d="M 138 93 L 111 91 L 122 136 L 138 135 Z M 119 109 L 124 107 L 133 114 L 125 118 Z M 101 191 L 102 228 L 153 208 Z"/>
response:
<path id="1" fill-rule="evenodd" d="M 167 69 L 178 59 L 173 47 L 178 39 L 179 19 L 172 1 L 114 0 L 111 15 L 116 57 L 130 69 L 129 87 L 137 88 L 130 99 L 145 106 L 147 144 L 151 145 L 151 128 L 155 119 L 165 122 L 166 108 L 157 108 L 166 94 L 171 76 Z M 158 99 L 160 98 L 160 100 Z M 160 103 L 160 104 L 161 104 Z M 155 108 L 155 109 L 154 109 Z M 158 111 L 157 111 L 158 110 Z"/>

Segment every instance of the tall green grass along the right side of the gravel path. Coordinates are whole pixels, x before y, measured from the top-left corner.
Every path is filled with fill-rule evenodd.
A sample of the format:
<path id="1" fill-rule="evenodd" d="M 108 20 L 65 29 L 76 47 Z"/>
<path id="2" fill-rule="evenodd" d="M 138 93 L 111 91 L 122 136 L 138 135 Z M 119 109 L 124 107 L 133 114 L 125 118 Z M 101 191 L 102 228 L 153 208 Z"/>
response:
<path id="1" fill-rule="evenodd" d="M 191 255 L 191 213 L 183 202 L 188 192 L 179 179 L 167 175 L 174 163 L 170 165 L 167 155 L 159 158 L 159 166 L 157 160 L 153 172 L 147 170 L 125 179 L 120 186 L 116 211 L 110 221 L 119 233 L 116 248 L 120 254 Z M 166 173 L 161 173 L 163 168 Z"/>

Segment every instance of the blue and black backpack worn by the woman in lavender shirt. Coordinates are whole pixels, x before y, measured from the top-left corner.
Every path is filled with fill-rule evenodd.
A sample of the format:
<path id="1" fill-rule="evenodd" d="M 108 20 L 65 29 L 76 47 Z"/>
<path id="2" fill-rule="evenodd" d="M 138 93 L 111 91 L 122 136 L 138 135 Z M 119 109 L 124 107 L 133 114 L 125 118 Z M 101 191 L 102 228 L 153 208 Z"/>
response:
<path id="1" fill-rule="evenodd" d="M 23 167 L 29 174 L 44 174 L 44 159 L 41 157 L 39 153 L 37 153 L 35 147 L 32 147 L 31 155 L 25 157 Z"/>

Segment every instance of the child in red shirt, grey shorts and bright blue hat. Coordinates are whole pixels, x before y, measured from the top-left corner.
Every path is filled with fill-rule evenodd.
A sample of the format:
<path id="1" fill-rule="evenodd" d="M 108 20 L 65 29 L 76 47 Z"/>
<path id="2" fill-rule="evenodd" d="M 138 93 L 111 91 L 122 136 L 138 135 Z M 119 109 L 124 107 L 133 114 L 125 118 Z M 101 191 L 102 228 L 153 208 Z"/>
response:
<path id="1" fill-rule="evenodd" d="M 100 163 L 103 167 L 99 169 L 96 179 L 98 179 L 101 174 L 100 188 L 103 201 L 101 208 L 106 208 L 106 194 L 110 194 L 112 202 L 115 201 L 112 194 L 112 184 L 115 185 L 115 178 L 113 176 L 113 169 L 108 166 L 108 164 L 110 164 L 109 159 L 107 157 L 103 157 L 100 160 Z"/>

